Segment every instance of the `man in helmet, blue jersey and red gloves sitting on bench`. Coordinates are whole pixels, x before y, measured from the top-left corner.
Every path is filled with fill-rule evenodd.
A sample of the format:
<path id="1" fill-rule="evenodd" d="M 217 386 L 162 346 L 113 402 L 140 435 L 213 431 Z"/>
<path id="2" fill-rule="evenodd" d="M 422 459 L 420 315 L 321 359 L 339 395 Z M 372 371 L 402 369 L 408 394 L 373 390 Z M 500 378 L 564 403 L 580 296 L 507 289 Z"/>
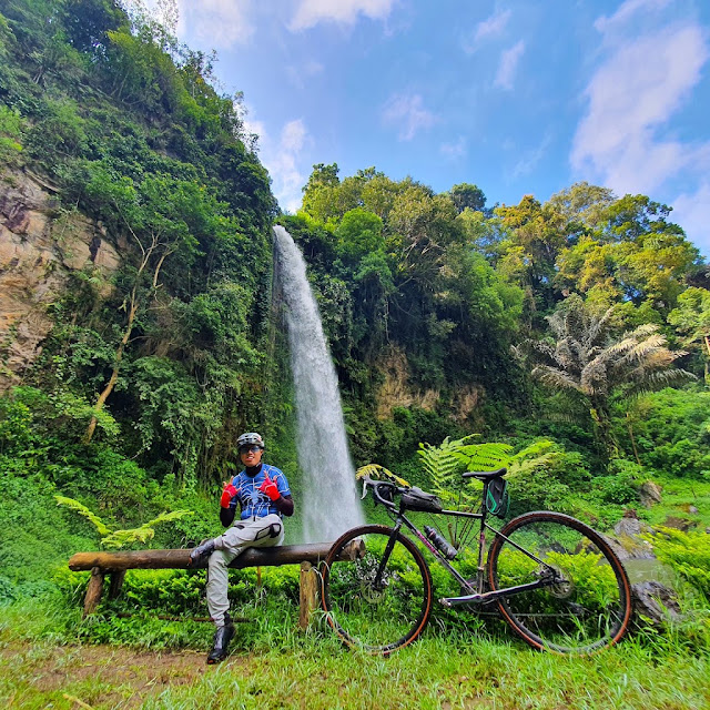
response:
<path id="1" fill-rule="evenodd" d="M 220 501 L 220 520 L 224 535 L 202 542 L 190 552 L 191 565 L 207 562 L 207 608 L 216 626 L 214 643 L 207 663 L 226 658 L 234 636 L 227 600 L 227 567 L 248 547 L 273 547 L 284 539 L 282 516 L 293 515 L 293 498 L 283 471 L 262 464 L 264 439 L 255 432 L 242 434 L 236 440 L 244 470 L 224 483 Z M 241 515 L 232 525 L 240 504 Z M 232 527 L 230 527 L 232 526 Z"/>

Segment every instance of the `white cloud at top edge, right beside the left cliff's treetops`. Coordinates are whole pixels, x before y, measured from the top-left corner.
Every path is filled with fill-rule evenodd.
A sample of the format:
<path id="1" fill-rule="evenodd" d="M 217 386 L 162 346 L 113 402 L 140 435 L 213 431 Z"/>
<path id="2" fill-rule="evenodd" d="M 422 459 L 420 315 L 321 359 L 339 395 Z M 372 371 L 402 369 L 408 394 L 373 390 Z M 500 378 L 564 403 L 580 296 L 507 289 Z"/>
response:
<path id="1" fill-rule="evenodd" d="M 178 0 L 178 34 L 184 37 L 189 32 L 211 49 L 229 49 L 254 34 L 251 0 Z"/>

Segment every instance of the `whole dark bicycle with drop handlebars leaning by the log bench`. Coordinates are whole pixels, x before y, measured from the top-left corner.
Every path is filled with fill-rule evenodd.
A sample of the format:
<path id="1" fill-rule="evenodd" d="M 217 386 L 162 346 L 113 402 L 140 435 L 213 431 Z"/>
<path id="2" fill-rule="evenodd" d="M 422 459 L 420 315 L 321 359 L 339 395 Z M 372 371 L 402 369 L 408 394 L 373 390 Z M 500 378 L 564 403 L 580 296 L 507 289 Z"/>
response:
<path id="1" fill-rule="evenodd" d="M 621 640 L 631 619 L 631 588 L 609 544 L 586 524 L 560 513 L 527 513 L 499 530 L 493 527 L 489 516 L 504 517 L 501 508 L 507 508 L 505 474 L 505 468 L 463 474 L 483 483 L 476 513 L 444 509 L 436 496 L 418 488 L 364 478 L 362 497 L 372 490 L 375 505 L 385 507 L 394 526 L 353 528 L 333 544 L 325 559 L 323 608 L 347 646 L 388 656 L 424 631 L 434 590 L 420 547 L 460 591 L 438 599 L 446 608 L 497 606 L 527 643 L 557 653 L 592 653 Z M 455 545 L 435 527 L 424 526 L 422 531 L 408 511 L 445 519 Z M 405 529 L 418 545 L 404 535 Z M 494 537 L 484 564 L 487 534 Z M 471 549 L 469 541 L 476 535 Z M 363 557 L 337 561 L 343 548 L 357 539 L 364 544 Z"/>

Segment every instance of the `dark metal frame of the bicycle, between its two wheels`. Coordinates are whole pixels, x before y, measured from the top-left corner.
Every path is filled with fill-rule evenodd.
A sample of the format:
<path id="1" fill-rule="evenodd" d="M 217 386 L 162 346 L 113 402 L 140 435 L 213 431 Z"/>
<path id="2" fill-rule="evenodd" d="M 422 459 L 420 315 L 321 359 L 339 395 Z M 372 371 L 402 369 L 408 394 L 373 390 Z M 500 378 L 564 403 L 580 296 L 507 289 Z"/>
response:
<path id="1" fill-rule="evenodd" d="M 486 500 L 487 488 L 488 488 L 488 481 L 485 480 L 484 490 L 483 490 L 483 500 Z M 375 499 L 377 498 L 378 496 L 375 497 Z M 395 538 L 397 534 L 402 530 L 403 527 L 406 527 L 426 547 L 426 549 L 428 549 L 429 552 L 434 555 L 434 557 L 449 572 L 449 575 L 452 575 L 452 577 L 456 579 L 456 581 L 462 586 L 462 588 L 470 592 L 467 595 L 463 595 L 460 597 L 444 597 L 439 599 L 439 602 L 445 607 L 450 608 L 450 607 L 455 607 L 464 604 L 484 605 L 490 601 L 496 601 L 501 597 L 511 597 L 514 595 L 530 591 L 532 589 L 549 587 L 557 584 L 558 581 L 558 572 L 554 567 L 542 561 L 539 557 L 537 557 L 529 550 L 526 550 L 524 547 L 520 547 L 519 545 L 510 540 L 505 535 L 501 535 L 499 530 L 497 530 L 496 528 L 490 526 L 488 523 L 486 523 L 488 510 L 486 509 L 485 505 L 481 506 L 480 513 L 442 510 L 442 511 L 430 514 L 435 516 L 446 516 L 446 517 L 457 517 L 457 518 L 468 518 L 473 520 L 480 520 L 480 527 L 478 531 L 478 565 L 477 565 L 477 572 L 476 572 L 476 584 L 474 586 L 469 580 L 465 579 L 460 575 L 460 572 L 448 561 L 448 559 L 446 559 L 446 557 L 444 557 L 444 555 L 432 544 L 432 541 L 424 535 L 424 532 L 422 532 L 422 530 L 419 530 L 419 528 L 417 528 L 417 526 L 407 518 L 407 516 L 405 515 L 405 511 L 402 508 L 397 509 L 394 504 L 387 504 L 382 499 L 379 501 L 383 503 L 383 505 L 385 505 L 385 507 L 389 510 L 389 514 L 392 515 L 395 525 L 393 527 L 393 532 L 389 538 L 389 542 L 385 548 L 385 554 L 383 556 L 379 569 L 377 570 L 376 579 L 379 579 L 387 564 L 387 560 L 389 559 L 389 555 L 392 552 L 392 549 L 394 548 Z M 486 550 L 486 529 L 490 530 L 496 536 L 503 537 L 517 550 L 519 550 L 524 555 L 527 555 L 530 559 L 535 560 L 538 565 L 542 566 L 545 569 L 545 572 L 540 575 L 538 580 L 534 582 L 529 582 L 527 585 L 518 585 L 515 587 L 506 587 L 503 589 L 491 589 L 491 590 L 485 591 L 486 566 L 484 562 L 484 555 Z"/>

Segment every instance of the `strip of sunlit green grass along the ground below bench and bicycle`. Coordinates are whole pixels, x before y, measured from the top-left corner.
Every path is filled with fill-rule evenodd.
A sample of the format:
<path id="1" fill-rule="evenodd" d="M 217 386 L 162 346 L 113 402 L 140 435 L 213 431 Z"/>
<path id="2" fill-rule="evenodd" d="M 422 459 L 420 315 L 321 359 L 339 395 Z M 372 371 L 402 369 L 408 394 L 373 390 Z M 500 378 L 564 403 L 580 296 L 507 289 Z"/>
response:
<path id="1" fill-rule="evenodd" d="M 4 607 L 0 707 L 710 707 L 707 617 L 663 635 L 637 633 L 591 658 L 538 653 L 497 625 L 467 632 L 442 617 L 416 643 L 382 659 L 345 649 L 321 623 L 298 632 L 295 605 L 266 601 L 251 610 L 230 658 L 206 667 L 209 623 L 150 615 L 82 621 L 59 599 Z"/>

